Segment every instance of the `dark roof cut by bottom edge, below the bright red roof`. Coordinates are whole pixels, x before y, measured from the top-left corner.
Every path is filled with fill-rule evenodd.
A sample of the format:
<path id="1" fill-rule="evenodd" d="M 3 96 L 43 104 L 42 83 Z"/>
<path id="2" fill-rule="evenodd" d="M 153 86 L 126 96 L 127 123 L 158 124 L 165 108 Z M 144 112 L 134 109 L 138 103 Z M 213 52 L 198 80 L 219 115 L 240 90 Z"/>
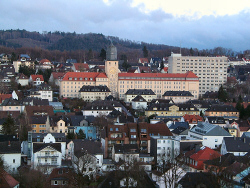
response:
<path id="1" fill-rule="evenodd" d="M 199 187 L 200 185 L 205 185 L 206 188 L 220 187 L 217 178 L 209 172 L 187 172 L 178 184 L 182 188 Z"/>

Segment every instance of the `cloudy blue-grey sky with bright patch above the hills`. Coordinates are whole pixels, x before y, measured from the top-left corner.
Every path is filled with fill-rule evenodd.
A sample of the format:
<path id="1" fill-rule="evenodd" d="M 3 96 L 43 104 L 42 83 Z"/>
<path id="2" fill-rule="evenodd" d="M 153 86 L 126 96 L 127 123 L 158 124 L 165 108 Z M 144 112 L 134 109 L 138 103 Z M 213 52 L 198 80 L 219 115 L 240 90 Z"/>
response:
<path id="1" fill-rule="evenodd" d="M 187 48 L 250 49 L 250 0 L 0 0 L 0 29 L 102 33 Z"/>

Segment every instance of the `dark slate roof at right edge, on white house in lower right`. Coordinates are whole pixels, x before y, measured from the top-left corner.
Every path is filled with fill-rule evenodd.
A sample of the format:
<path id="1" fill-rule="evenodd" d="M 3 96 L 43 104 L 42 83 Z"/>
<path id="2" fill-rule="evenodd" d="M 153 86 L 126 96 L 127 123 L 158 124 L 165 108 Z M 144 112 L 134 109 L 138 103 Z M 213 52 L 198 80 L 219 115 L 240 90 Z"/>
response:
<path id="1" fill-rule="evenodd" d="M 224 137 L 228 152 L 249 152 L 250 138 Z"/>

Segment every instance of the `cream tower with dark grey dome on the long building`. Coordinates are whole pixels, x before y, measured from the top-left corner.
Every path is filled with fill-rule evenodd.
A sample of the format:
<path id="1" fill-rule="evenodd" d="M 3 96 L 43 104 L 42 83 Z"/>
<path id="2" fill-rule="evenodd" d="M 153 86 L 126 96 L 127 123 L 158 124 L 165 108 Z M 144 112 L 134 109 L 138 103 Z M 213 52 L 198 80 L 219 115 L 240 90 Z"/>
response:
<path id="1" fill-rule="evenodd" d="M 106 58 L 107 60 L 105 61 L 105 73 L 109 80 L 108 87 L 113 97 L 118 97 L 119 61 L 117 60 L 117 49 L 112 43 L 107 49 Z"/>

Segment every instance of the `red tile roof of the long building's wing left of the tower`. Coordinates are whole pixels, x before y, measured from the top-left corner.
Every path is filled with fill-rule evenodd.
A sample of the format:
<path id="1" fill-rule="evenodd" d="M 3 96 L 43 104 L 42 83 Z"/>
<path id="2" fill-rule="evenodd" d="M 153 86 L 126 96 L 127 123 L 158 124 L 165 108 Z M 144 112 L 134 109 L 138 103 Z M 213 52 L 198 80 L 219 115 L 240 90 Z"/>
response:
<path id="1" fill-rule="evenodd" d="M 104 77 L 104 73 L 99 72 L 67 72 L 62 81 L 68 81 L 69 78 L 72 78 L 72 81 L 95 81 L 96 77 L 98 77 L 99 75 L 101 76 L 101 78 L 107 78 L 107 76 Z"/>

